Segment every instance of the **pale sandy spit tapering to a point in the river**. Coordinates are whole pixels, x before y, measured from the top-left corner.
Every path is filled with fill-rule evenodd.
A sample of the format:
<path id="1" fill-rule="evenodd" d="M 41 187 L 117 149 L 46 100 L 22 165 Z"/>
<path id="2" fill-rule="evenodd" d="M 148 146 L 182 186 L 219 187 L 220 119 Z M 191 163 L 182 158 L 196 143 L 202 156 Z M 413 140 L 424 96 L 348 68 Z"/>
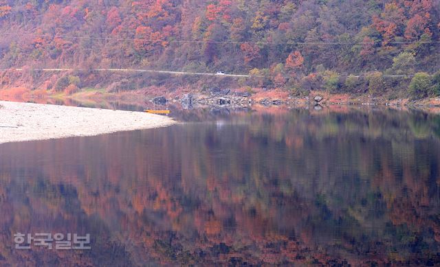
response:
<path id="1" fill-rule="evenodd" d="M 0 101 L 0 143 L 158 128 L 173 119 L 132 111 Z"/>

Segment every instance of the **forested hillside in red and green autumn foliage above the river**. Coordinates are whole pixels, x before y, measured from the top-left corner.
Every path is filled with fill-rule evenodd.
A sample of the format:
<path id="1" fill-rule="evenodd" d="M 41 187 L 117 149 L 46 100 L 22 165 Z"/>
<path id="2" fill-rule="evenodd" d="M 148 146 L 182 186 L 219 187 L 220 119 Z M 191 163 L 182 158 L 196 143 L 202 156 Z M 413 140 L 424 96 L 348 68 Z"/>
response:
<path id="1" fill-rule="evenodd" d="M 439 0 L 0 0 L 1 69 L 85 69 L 6 71 L 0 82 L 57 91 L 195 84 L 139 75 L 103 84 L 92 71 L 141 68 L 250 73 L 228 83 L 293 93 L 425 97 L 440 91 L 439 31 Z"/>

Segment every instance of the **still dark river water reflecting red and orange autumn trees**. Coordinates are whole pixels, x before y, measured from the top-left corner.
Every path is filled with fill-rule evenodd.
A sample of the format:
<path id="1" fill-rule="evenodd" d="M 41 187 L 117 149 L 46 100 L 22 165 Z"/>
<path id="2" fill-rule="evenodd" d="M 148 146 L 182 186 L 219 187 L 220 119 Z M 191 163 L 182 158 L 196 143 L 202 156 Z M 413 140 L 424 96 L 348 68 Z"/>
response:
<path id="1" fill-rule="evenodd" d="M 294 110 L 3 144 L 0 258 L 439 263 L 439 134 L 419 112 Z M 17 231 L 89 232 L 93 249 L 17 251 Z"/>

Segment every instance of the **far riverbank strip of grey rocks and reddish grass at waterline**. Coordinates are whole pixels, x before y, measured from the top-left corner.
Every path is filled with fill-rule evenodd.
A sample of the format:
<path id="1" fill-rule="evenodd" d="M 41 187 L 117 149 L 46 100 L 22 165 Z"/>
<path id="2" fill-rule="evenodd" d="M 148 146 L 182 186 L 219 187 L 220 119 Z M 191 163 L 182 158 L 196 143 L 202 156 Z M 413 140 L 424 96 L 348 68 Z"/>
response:
<path id="1" fill-rule="evenodd" d="M 188 99 L 188 95 L 191 96 Z M 80 89 L 75 93 L 53 92 L 46 90 L 25 89 L 23 87 L 8 88 L 0 90 L 0 100 L 12 102 L 36 102 L 41 104 L 72 102 L 87 103 L 89 106 L 97 106 L 100 102 L 121 102 L 125 104 L 140 104 L 147 107 L 149 103 L 153 104 L 155 97 L 164 97 L 166 103 L 181 103 L 186 108 L 188 104 L 192 106 L 201 105 L 231 105 L 242 106 L 248 104 L 270 105 L 314 105 L 317 104 L 315 97 L 322 97 L 319 102 L 321 105 L 384 105 L 384 106 L 410 106 L 412 108 L 432 108 L 440 107 L 440 96 L 431 96 L 411 99 L 406 94 L 390 95 L 369 93 L 329 93 L 325 90 L 311 90 L 307 95 L 298 96 L 292 91 L 281 89 L 265 88 L 237 88 L 228 89 L 228 87 L 212 87 L 205 90 L 188 88 L 179 88 L 177 90 L 168 90 L 166 88 L 148 87 L 146 89 L 137 89 L 131 91 L 109 92 L 100 88 Z M 188 102 L 189 100 L 189 102 Z M 69 106 L 69 104 L 67 104 Z M 99 105 L 98 105 L 99 106 Z"/>

